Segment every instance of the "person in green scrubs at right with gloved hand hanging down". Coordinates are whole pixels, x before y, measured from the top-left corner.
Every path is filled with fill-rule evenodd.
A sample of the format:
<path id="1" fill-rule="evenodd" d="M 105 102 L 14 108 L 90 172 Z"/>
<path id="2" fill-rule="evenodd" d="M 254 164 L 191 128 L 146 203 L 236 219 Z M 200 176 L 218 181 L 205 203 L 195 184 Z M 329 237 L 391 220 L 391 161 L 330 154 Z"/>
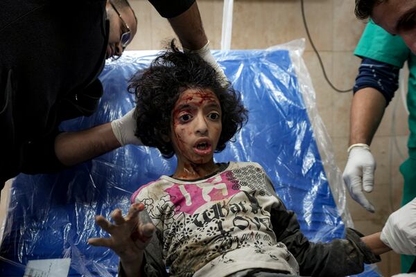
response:
<path id="1" fill-rule="evenodd" d="M 370 144 L 385 108 L 398 87 L 399 69 L 408 62 L 407 105 L 408 159 L 401 164 L 404 177 L 402 206 L 416 197 L 416 0 L 356 0 L 356 15 L 371 17 L 356 46 L 362 57 L 354 86 L 349 136 L 349 157 L 343 177 L 349 193 L 367 211 L 375 208 L 365 198 L 374 185 L 376 161 Z M 401 271 L 407 272 L 414 256 L 401 256 Z"/>

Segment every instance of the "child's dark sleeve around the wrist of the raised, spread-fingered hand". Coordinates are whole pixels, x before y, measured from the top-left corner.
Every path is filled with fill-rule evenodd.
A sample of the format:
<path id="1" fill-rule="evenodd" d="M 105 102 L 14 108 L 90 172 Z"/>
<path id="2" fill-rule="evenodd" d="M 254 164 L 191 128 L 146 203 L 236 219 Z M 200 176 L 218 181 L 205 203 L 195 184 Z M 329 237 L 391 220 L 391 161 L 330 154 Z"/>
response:
<path id="1" fill-rule="evenodd" d="M 162 240 L 160 240 L 161 233 L 156 231 L 150 240 L 148 246 L 144 251 L 144 267 L 141 271 L 141 276 L 146 277 L 165 277 L 166 267 L 162 258 Z M 119 264 L 119 277 L 125 277 L 123 267 Z"/>

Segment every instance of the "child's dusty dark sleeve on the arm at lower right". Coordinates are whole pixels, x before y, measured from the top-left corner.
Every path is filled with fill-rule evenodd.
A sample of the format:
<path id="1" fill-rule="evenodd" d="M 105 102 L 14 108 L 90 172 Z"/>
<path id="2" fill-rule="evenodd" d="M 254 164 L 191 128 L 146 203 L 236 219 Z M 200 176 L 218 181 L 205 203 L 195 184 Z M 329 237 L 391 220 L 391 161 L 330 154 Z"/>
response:
<path id="1" fill-rule="evenodd" d="M 328 243 L 313 243 L 301 233 L 299 222 L 293 211 L 283 204 L 272 208 L 271 222 L 277 241 L 283 242 L 295 256 L 301 276 L 347 276 L 364 270 L 364 263 L 379 262 L 361 241 L 361 233 L 347 229 L 345 239 Z"/>

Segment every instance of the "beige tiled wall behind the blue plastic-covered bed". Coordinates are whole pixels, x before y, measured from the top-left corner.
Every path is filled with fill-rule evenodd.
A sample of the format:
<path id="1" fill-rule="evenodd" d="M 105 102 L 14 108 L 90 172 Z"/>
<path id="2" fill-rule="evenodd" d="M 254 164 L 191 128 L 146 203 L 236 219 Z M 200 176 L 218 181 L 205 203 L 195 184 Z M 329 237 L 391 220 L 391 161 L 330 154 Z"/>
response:
<path id="1" fill-rule="evenodd" d="M 130 0 L 137 14 L 137 36 L 128 47 L 130 50 L 159 49 L 163 39 L 173 37 L 166 19 L 162 19 L 147 0 Z M 223 17 L 222 0 L 198 0 L 211 48 L 220 48 Z M 354 18 L 354 1 L 305 0 L 309 30 L 317 46 L 327 75 L 341 89 L 354 84 L 360 60 L 352 55 L 365 24 Z M 267 48 L 292 39 L 306 37 L 302 24 L 300 0 L 235 0 L 232 33 L 233 49 Z M 307 43 L 304 53 L 317 94 L 318 111 L 336 152 L 336 163 L 343 170 L 347 159 L 349 134 L 349 105 L 352 93 L 337 93 L 325 82 L 318 59 Z M 406 154 L 408 135 L 406 114 L 401 99 L 396 97 L 397 119 L 395 132 L 401 152 Z M 376 213 L 367 213 L 349 199 L 349 208 L 356 228 L 364 234 L 381 230 L 392 207 L 399 207 L 403 179 L 398 171 L 402 159 L 392 148 L 392 110 L 388 107 L 372 143 L 377 161 L 375 190 L 368 196 L 376 206 Z M 391 187 L 392 184 L 392 187 Z M 4 192 L 4 190 L 3 190 Z M 390 193 L 393 192 L 393 193 Z M 391 195 L 391 197 L 390 197 Z M 1 204 L 4 193 L 2 193 Z M 349 197 L 348 197 L 349 198 Z M 390 205 L 390 198 L 392 205 Z M 1 217 L 1 215 L 0 215 Z M 399 272 L 399 258 L 394 253 L 382 256 L 379 267 L 384 276 Z"/>

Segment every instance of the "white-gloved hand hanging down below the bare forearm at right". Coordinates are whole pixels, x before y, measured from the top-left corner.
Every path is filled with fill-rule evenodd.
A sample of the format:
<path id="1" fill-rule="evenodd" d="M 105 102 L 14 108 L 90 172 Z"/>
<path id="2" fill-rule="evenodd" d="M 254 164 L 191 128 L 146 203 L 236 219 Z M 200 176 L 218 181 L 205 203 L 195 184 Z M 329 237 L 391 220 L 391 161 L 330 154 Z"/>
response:
<path id="1" fill-rule="evenodd" d="M 349 195 L 367 211 L 374 213 L 374 206 L 365 198 L 363 190 L 366 193 L 372 192 L 376 161 L 370 152 L 370 147 L 363 143 L 351 145 L 348 152 L 343 179 L 347 184 Z"/>

